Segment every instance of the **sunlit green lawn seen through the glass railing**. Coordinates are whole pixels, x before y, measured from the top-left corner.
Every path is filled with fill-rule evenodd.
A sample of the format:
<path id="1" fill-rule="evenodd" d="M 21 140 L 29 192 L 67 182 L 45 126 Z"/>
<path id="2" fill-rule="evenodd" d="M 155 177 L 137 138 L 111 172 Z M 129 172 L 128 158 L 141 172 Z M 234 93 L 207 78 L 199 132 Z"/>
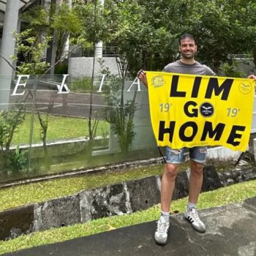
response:
<path id="1" fill-rule="evenodd" d="M 45 115 L 42 115 L 44 117 Z M 109 135 L 110 126 L 106 121 L 99 121 L 97 136 Z M 12 139 L 12 145 L 29 144 L 31 114 L 27 113 L 25 121 L 20 124 Z M 42 142 L 41 127 L 37 114 L 34 115 L 33 143 Z M 61 140 L 86 137 L 89 135 L 88 119 L 63 116 L 48 116 L 47 140 Z"/>

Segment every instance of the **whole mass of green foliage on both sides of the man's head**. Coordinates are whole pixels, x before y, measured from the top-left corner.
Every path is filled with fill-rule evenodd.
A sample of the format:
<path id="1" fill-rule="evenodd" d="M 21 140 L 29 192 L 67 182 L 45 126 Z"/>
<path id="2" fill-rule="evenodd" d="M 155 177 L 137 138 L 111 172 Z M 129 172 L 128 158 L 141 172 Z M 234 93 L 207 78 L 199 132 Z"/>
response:
<path id="1" fill-rule="evenodd" d="M 229 54 L 256 52 L 255 11 L 254 1 L 241 0 L 106 0 L 106 43 L 126 57 L 134 76 L 140 68 L 162 70 L 175 61 L 178 38 L 187 32 L 197 39 L 198 61 L 217 72 Z"/>

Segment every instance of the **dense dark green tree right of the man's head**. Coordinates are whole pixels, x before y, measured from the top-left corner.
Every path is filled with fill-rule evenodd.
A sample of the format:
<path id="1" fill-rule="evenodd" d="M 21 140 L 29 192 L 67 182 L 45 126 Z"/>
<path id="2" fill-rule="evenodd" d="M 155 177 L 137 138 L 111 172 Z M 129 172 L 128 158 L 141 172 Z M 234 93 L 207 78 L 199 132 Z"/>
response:
<path id="1" fill-rule="evenodd" d="M 198 1 L 188 10 L 200 10 L 192 23 L 192 33 L 200 45 L 197 57 L 216 72 L 222 63 L 230 62 L 231 54 L 252 52 L 256 35 L 252 1 Z"/>

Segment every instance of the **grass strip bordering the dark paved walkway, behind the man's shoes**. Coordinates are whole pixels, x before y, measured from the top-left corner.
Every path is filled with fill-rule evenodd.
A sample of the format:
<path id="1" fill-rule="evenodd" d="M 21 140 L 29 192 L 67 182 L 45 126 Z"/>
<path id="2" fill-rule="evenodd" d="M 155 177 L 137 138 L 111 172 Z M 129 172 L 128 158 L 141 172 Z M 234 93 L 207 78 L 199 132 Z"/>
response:
<path id="1" fill-rule="evenodd" d="M 255 196 L 256 180 L 247 181 L 211 192 L 201 193 L 197 208 L 224 206 L 228 203 L 238 203 L 246 198 Z M 173 201 L 171 211 L 183 212 L 186 203 L 187 197 Z M 20 236 L 10 241 L 0 241 L 0 254 L 43 244 L 56 243 L 81 236 L 89 236 L 95 233 L 113 230 L 118 227 L 149 222 L 158 219 L 158 217 L 159 205 L 151 207 L 146 211 L 140 211 L 133 214 L 97 219 L 79 225 L 36 232 L 27 236 Z"/>

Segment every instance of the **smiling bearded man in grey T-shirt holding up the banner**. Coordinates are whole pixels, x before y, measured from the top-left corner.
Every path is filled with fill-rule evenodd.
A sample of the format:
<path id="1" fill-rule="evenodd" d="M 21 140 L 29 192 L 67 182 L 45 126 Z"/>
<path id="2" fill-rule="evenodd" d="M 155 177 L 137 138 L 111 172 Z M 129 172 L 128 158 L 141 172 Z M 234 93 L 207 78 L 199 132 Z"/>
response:
<path id="1" fill-rule="evenodd" d="M 191 34 L 183 34 L 181 36 L 179 39 L 179 50 L 181 52 L 181 59 L 167 64 L 163 72 L 190 75 L 216 75 L 209 67 L 195 61 L 197 44 Z M 148 86 L 146 73 L 143 70 L 138 73 L 138 78 L 146 87 Z M 249 78 L 256 79 L 255 75 L 250 75 Z M 157 244 L 167 243 L 167 234 L 170 226 L 170 202 L 178 174 L 178 165 L 184 159 L 184 149 L 166 147 L 166 165 L 161 182 L 161 217 L 157 222 L 157 230 L 154 233 Z M 196 204 L 203 184 L 203 163 L 206 162 L 206 154 L 206 146 L 189 148 L 191 172 L 189 177 L 189 197 L 184 217 L 200 233 L 206 231 L 206 226 L 197 214 Z"/>

